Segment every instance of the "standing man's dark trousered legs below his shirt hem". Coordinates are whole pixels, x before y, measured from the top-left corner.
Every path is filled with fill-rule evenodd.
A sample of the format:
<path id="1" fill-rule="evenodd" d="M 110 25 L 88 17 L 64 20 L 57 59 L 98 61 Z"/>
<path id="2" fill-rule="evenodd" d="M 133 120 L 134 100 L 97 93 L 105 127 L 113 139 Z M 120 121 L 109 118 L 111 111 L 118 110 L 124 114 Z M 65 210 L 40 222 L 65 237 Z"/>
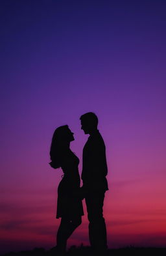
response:
<path id="1" fill-rule="evenodd" d="M 104 192 L 91 192 L 86 195 L 89 220 L 89 242 L 93 249 L 106 249 L 106 224 L 102 214 Z"/>

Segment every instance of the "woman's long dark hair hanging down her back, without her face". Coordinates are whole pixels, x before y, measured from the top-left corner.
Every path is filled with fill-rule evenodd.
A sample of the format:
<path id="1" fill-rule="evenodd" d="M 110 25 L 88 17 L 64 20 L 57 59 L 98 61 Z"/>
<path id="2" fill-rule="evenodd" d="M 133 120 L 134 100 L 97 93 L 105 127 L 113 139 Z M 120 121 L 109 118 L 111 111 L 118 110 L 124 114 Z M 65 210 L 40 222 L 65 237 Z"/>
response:
<path id="1" fill-rule="evenodd" d="M 66 131 L 69 129 L 68 125 L 60 126 L 56 128 L 53 134 L 50 158 L 53 162 L 54 168 L 59 168 L 62 165 L 63 155 L 66 145 Z"/>

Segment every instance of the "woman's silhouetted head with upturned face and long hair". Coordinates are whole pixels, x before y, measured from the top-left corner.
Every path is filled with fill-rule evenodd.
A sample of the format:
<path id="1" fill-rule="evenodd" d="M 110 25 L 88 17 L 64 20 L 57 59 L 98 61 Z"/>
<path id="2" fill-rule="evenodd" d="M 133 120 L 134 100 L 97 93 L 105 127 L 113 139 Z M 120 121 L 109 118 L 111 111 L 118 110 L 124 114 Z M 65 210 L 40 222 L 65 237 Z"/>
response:
<path id="1" fill-rule="evenodd" d="M 65 150 L 69 147 L 69 143 L 74 140 L 73 132 L 71 132 L 68 125 L 60 126 L 54 131 L 50 157 L 51 160 L 56 163 L 56 168 L 60 167 L 60 162 L 63 154 L 65 154 Z"/>

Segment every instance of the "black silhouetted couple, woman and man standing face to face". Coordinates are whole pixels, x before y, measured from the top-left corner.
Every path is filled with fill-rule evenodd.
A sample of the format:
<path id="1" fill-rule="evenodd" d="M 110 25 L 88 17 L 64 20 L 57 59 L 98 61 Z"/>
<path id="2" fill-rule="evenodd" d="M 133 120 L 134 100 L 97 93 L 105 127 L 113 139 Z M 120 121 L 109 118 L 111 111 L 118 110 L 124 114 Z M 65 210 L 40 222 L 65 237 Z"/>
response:
<path id="1" fill-rule="evenodd" d="M 91 248 L 94 251 L 104 251 L 107 248 L 106 224 L 102 214 L 104 193 L 108 190 L 105 145 L 97 130 L 98 119 L 94 113 L 82 115 L 80 122 L 81 129 L 85 134 L 89 134 L 83 150 L 82 188 L 78 173 L 79 159 L 70 149 L 70 143 L 74 141 L 73 132 L 67 125 L 60 126 L 54 131 L 50 150 L 51 167 L 61 167 L 64 172 L 58 186 L 56 218 L 61 218 L 61 222 L 55 248 L 55 251 L 62 254 L 65 252 L 67 239 L 82 222 L 84 198 L 88 212 Z"/>

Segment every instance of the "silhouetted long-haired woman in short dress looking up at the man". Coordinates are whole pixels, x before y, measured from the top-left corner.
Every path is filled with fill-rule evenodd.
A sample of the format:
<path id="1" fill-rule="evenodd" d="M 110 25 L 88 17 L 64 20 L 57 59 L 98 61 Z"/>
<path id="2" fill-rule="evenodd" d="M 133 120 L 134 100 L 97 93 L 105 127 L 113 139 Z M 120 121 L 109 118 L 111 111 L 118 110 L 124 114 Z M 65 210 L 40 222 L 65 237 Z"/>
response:
<path id="1" fill-rule="evenodd" d="M 54 169 L 61 167 L 64 172 L 58 186 L 56 211 L 56 218 L 61 218 L 55 248 L 59 253 L 65 252 L 67 239 L 81 224 L 81 216 L 84 215 L 82 201 L 79 197 L 79 159 L 70 149 L 70 143 L 74 140 L 73 132 L 69 130 L 69 127 L 60 126 L 54 131 L 50 150 L 51 167 Z"/>

